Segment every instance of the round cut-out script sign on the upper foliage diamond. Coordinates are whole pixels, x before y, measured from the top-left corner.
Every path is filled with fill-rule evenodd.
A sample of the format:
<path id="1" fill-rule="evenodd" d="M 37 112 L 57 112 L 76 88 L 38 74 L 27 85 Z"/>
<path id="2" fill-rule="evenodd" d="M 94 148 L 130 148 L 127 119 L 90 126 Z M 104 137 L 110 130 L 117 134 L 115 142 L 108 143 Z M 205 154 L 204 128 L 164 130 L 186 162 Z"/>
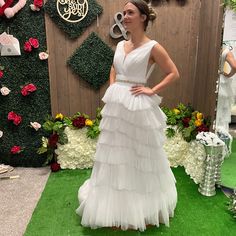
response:
<path id="1" fill-rule="evenodd" d="M 68 22 L 76 23 L 88 13 L 87 0 L 57 0 L 57 11 L 60 17 Z"/>

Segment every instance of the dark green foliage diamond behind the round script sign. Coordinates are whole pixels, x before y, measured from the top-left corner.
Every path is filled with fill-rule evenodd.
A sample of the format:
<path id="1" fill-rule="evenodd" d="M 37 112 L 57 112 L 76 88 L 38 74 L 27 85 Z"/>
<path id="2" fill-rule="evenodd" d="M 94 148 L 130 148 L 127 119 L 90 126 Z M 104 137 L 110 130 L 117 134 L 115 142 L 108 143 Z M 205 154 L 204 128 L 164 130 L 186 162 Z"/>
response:
<path id="1" fill-rule="evenodd" d="M 48 0 L 45 4 L 45 11 L 69 38 L 77 38 L 102 13 L 103 8 L 95 0 L 88 0 L 88 13 L 79 23 L 70 23 L 60 17 L 57 12 L 57 0 Z"/>

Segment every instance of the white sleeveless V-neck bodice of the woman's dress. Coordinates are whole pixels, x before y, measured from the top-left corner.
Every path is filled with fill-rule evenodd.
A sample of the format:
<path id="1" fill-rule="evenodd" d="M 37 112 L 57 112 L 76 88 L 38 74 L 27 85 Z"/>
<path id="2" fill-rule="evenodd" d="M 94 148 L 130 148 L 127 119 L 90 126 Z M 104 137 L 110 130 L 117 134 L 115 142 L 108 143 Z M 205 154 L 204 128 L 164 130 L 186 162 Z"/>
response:
<path id="1" fill-rule="evenodd" d="M 155 64 L 150 67 L 148 62 L 151 50 L 157 42 L 150 40 L 127 54 L 125 53 L 124 43 L 125 41 L 123 40 L 117 44 L 114 55 L 113 64 L 116 71 L 116 78 L 119 80 L 146 83 L 154 69 Z"/>

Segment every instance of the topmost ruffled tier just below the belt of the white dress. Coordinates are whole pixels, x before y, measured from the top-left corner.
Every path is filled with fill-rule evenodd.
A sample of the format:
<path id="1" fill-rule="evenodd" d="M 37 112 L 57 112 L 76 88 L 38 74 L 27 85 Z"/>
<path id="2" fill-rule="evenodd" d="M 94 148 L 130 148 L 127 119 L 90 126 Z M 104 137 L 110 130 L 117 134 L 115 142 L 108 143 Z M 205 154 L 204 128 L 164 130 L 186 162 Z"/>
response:
<path id="1" fill-rule="evenodd" d="M 146 110 L 158 107 L 161 103 L 161 97 L 158 95 L 134 96 L 130 92 L 132 85 L 125 83 L 114 83 L 107 89 L 102 100 L 105 103 L 119 103 L 130 111 Z"/>

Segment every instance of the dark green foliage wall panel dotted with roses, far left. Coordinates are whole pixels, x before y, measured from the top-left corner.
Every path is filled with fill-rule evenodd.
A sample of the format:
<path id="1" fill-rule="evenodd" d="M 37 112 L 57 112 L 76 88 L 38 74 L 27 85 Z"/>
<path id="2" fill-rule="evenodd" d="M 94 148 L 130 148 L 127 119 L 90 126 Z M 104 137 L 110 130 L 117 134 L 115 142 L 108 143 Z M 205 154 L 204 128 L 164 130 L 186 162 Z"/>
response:
<path id="1" fill-rule="evenodd" d="M 1 86 L 8 87 L 11 92 L 8 96 L 0 94 L 0 163 L 13 166 L 41 166 L 45 156 L 36 153 L 41 145 L 43 130 L 35 131 L 30 122 L 43 123 L 50 110 L 50 89 L 47 60 L 41 61 L 38 53 L 46 51 L 46 33 L 44 25 L 44 10 L 31 11 L 27 1 L 25 7 L 12 19 L 0 17 L 0 34 L 7 30 L 18 38 L 21 47 L 21 56 L 0 57 L 0 65 L 5 67 L 4 76 L 0 79 Z M 23 50 L 24 42 L 30 37 L 39 40 L 39 48 L 26 53 Z M 37 91 L 27 97 L 21 95 L 21 86 L 33 83 Z M 8 112 L 14 111 L 22 116 L 22 123 L 15 126 L 7 120 Z M 12 155 L 10 149 L 14 145 L 24 147 L 20 154 Z"/>

